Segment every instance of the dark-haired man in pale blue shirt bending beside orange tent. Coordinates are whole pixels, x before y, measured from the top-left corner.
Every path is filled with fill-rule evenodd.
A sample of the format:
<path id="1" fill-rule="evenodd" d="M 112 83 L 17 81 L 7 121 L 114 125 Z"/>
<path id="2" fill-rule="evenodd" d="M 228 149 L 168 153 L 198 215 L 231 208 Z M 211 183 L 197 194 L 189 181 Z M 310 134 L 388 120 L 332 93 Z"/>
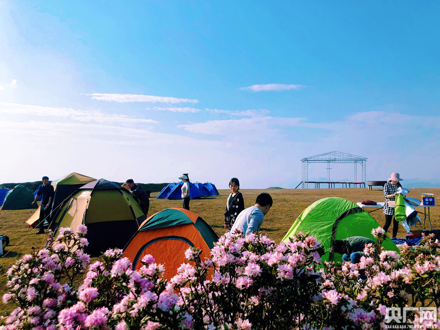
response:
<path id="1" fill-rule="evenodd" d="M 231 228 L 231 233 L 238 229 L 244 236 L 254 231 L 259 231 L 263 218 L 272 206 L 272 197 L 267 193 L 258 195 L 255 205 L 244 209 L 237 217 Z"/>

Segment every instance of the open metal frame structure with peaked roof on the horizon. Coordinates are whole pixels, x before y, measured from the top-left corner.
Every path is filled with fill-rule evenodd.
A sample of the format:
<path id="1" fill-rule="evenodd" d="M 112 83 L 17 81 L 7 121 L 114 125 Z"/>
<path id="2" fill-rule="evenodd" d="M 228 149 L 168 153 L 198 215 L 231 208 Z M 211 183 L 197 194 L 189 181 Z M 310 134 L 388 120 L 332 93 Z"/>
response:
<path id="1" fill-rule="evenodd" d="M 366 176 L 367 176 L 367 158 L 356 156 L 354 154 L 345 154 L 338 151 L 332 151 L 330 153 L 325 154 L 317 154 L 310 157 L 305 157 L 301 159 L 302 162 L 302 188 L 308 188 L 308 164 L 311 163 L 327 163 L 327 182 L 329 183 L 330 188 L 330 164 L 331 163 L 353 163 L 354 164 L 354 182 L 332 182 L 332 183 L 357 183 L 359 186 L 365 188 Z M 362 181 L 357 182 L 357 164 L 361 164 L 362 166 Z M 318 181 L 313 181 L 318 182 Z M 354 185 L 356 186 L 356 185 Z M 315 185 L 316 187 L 316 185 Z"/>

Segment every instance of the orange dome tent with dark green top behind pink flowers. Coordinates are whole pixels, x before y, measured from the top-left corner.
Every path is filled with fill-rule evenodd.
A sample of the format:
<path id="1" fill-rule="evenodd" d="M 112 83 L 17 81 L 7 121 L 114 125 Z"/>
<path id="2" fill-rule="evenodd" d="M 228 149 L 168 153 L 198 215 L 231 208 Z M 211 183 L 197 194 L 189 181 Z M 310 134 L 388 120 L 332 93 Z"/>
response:
<path id="1" fill-rule="evenodd" d="M 202 250 L 200 259 L 211 256 L 218 236 L 197 214 L 181 208 L 168 208 L 145 220 L 124 249 L 124 257 L 139 269 L 142 258 L 151 254 L 165 266 L 164 278 L 171 279 L 185 262 L 185 251 L 192 246 Z"/>

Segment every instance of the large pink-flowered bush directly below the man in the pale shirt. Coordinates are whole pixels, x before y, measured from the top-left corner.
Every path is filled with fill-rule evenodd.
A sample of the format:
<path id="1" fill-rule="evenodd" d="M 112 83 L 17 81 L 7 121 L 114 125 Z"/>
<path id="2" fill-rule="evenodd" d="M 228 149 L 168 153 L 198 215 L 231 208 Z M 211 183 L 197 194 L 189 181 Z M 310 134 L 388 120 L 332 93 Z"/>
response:
<path id="1" fill-rule="evenodd" d="M 226 233 L 200 261 L 200 250 L 187 251 L 195 265 L 182 264 L 171 279 L 195 329 L 287 329 L 299 325 L 318 293 L 318 242 L 299 236 L 276 245 L 265 236 Z M 209 271 L 213 269 L 211 280 Z"/>

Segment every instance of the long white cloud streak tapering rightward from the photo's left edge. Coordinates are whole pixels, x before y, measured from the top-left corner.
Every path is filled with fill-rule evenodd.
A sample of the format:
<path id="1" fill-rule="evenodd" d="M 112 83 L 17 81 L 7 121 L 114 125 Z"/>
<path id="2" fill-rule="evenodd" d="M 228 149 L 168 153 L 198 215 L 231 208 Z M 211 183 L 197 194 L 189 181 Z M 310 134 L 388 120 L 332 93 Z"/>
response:
<path id="1" fill-rule="evenodd" d="M 0 113 L 12 115 L 34 115 L 43 117 L 66 117 L 81 122 L 119 123 L 129 124 L 156 124 L 153 119 L 134 118 L 124 114 L 106 114 L 98 110 L 75 110 L 71 108 L 41 107 L 16 103 L 1 103 Z"/>

